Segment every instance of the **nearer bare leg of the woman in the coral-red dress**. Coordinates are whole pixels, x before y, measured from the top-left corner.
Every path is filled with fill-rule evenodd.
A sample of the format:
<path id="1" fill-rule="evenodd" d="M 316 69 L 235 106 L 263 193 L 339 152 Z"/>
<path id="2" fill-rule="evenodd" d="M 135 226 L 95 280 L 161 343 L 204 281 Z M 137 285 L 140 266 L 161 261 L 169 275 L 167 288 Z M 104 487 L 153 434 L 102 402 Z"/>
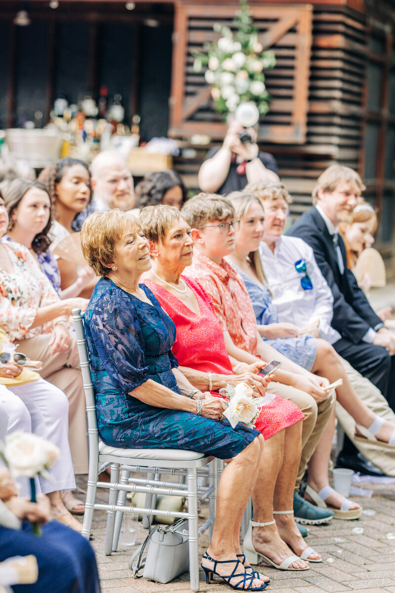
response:
<path id="1" fill-rule="evenodd" d="M 284 439 L 285 429 L 265 441 L 265 451 L 261 458 L 258 479 L 252 492 L 254 521 L 259 523 L 273 520 L 273 496 L 284 454 Z M 300 452 L 300 448 L 298 450 Z M 298 464 L 296 464 L 297 470 Z M 295 479 L 291 484 L 292 492 L 294 484 Z M 282 541 L 276 524 L 253 527 L 252 545 L 257 552 L 268 556 L 276 564 L 281 564 L 283 560 L 293 554 L 287 544 Z M 291 564 L 291 568 L 296 569 L 306 568 L 306 566 L 309 566 L 309 563 L 305 560 L 298 560 Z"/>

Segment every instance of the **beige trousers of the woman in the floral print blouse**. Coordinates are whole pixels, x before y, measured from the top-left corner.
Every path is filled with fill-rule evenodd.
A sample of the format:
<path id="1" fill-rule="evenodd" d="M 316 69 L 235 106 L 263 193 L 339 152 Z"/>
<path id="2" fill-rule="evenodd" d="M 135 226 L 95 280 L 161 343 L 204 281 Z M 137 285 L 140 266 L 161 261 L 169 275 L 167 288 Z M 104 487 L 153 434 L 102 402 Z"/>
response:
<path id="1" fill-rule="evenodd" d="M 86 404 L 84 385 L 76 345 L 70 332 L 71 344 L 65 352 L 51 354 L 50 334 L 28 340 L 18 340 L 18 350 L 35 361 L 42 361 L 41 377 L 59 387 L 69 400 L 69 444 L 76 474 L 88 473 L 88 441 L 86 439 Z"/>

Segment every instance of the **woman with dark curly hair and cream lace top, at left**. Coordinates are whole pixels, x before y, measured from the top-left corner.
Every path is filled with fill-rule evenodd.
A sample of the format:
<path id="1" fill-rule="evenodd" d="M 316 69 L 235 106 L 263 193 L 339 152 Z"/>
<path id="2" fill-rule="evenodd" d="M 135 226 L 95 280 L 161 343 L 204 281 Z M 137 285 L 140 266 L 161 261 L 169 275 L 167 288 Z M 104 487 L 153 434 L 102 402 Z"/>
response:
<path id="1" fill-rule="evenodd" d="M 38 181 L 46 188 L 53 206 L 55 220 L 48 237 L 51 241 L 50 251 L 54 251 L 74 232 L 72 224 L 75 216 L 92 200 L 91 173 L 86 162 L 66 157 L 41 171 Z M 72 257 L 66 259 L 59 256 L 57 260 L 62 290 L 72 286 L 78 280 L 79 272 L 81 273 L 81 266 L 76 261 L 70 261 L 71 259 Z M 89 298 L 95 282 L 93 274 L 89 272 L 89 283 L 85 283 L 79 296 Z"/>

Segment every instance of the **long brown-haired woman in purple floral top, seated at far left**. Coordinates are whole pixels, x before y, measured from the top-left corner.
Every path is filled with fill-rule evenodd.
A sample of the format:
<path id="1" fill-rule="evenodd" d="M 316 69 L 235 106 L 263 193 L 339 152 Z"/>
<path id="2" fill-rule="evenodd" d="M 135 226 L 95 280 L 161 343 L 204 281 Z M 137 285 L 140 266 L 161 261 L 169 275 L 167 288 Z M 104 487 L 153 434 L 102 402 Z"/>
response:
<path id="1" fill-rule="evenodd" d="M 60 289 L 59 266 L 56 257 L 49 251 L 51 200 L 43 184 L 30 179 L 11 181 L 4 192 L 4 204 L 9 218 L 8 237 L 28 248 L 60 298 L 77 297 L 91 281 L 92 275 L 83 270 L 69 288 Z"/>

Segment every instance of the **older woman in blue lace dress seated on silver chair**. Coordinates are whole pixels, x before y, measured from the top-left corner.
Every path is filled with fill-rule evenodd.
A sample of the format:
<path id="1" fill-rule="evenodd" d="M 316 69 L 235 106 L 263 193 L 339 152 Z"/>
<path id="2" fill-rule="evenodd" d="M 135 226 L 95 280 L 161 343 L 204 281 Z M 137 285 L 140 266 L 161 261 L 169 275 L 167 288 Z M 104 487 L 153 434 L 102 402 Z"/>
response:
<path id="1" fill-rule="evenodd" d="M 262 436 L 240 423 L 232 429 L 222 421 L 223 401 L 195 390 L 178 370 L 171 352 L 174 323 L 139 284 L 151 264 L 137 218 L 119 209 L 92 214 L 82 225 L 81 245 L 101 276 L 86 308 L 85 332 L 102 440 L 115 447 L 190 449 L 225 460 L 202 566 L 237 590 L 265 588 L 262 576 L 236 556 Z"/>

